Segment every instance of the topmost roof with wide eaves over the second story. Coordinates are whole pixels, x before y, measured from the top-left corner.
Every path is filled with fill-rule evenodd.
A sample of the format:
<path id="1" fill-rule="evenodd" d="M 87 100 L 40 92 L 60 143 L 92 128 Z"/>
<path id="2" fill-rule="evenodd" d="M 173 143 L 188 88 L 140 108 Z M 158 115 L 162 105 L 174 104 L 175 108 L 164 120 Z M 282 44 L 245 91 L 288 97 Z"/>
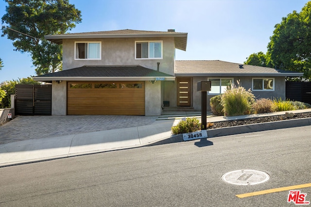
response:
<path id="1" fill-rule="evenodd" d="M 129 38 L 129 37 L 174 37 L 175 47 L 186 51 L 188 33 L 158 31 L 143 31 L 143 30 L 114 30 L 102 32 L 80 32 L 80 33 L 67 33 L 56 35 L 45 35 L 44 38 L 50 40 L 58 45 L 63 43 L 63 39 L 79 39 L 79 38 Z"/>

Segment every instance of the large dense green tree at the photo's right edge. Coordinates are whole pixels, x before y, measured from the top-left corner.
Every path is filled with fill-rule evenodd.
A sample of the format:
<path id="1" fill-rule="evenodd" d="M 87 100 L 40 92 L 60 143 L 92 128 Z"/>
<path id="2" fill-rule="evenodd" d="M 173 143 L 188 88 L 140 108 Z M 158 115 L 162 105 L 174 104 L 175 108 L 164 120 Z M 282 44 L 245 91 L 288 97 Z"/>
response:
<path id="1" fill-rule="evenodd" d="M 304 73 L 304 79 L 311 79 L 311 1 L 300 13 L 282 18 L 276 24 L 268 44 L 272 63 L 284 70 Z"/>

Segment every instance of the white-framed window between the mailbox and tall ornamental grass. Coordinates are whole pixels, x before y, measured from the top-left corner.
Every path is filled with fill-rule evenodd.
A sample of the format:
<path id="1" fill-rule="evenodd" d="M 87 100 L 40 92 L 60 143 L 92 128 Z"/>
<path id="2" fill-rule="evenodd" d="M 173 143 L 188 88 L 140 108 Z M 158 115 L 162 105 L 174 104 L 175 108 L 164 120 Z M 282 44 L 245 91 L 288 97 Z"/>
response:
<path id="1" fill-rule="evenodd" d="M 233 78 L 209 78 L 210 88 L 208 94 L 223 94 L 231 86 Z"/>

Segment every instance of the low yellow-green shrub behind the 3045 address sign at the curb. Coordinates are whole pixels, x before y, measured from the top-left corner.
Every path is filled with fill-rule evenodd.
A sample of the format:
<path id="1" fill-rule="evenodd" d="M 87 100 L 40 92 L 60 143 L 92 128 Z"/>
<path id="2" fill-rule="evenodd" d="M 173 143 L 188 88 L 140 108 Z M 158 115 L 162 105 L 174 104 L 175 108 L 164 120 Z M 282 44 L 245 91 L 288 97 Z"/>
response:
<path id="1" fill-rule="evenodd" d="M 181 120 L 176 126 L 172 128 L 173 134 L 183 134 L 193 131 L 201 130 L 201 124 L 197 118 L 186 118 L 186 120 Z"/>

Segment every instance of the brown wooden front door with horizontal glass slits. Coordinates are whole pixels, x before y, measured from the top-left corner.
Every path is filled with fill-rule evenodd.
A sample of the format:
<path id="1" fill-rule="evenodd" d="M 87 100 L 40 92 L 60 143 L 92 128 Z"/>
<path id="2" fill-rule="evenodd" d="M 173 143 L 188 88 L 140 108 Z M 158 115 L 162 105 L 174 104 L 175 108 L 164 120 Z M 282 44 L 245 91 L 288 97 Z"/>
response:
<path id="1" fill-rule="evenodd" d="M 177 78 L 177 106 L 191 105 L 191 78 Z"/>

